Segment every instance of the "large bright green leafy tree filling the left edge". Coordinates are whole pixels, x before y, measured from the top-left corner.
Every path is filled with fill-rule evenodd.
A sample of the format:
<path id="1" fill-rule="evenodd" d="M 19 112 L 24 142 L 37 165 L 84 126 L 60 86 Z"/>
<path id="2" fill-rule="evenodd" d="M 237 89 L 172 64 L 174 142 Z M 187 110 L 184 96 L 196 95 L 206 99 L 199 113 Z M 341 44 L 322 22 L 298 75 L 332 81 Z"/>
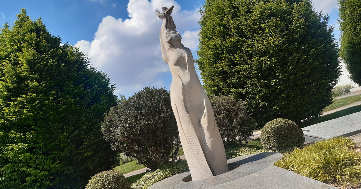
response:
<path id="1" fill-rule="evenodd" d="M 109 77 L 21 9 L 0 33 L 0 188 L 84 188 L 112 166 Z"/>

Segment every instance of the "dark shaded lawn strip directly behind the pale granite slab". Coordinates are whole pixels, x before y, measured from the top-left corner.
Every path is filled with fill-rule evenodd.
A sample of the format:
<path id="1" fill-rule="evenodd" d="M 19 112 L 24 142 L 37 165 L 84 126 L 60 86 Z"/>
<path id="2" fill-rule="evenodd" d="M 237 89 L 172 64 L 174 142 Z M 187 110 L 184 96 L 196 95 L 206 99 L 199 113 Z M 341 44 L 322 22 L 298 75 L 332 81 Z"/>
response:
<path id="1" fill-rule="evenodd" d="M 356 112 L 360 112 L 360 111 L 361 111 L 361 105 L 353 106 L 353 107 L 350 107 L 350 108 L 346 108 L 346 109 L 343 109 L 343 110 L 340 110 L 340 111 L 337 111 L 337 112 L 334 112 L 334 113 L 330 113 L 330 114 L 318 117 L 317 119 L 314 119 L 314 120 L 305 121 L 304 123 L 301 123 L 300 126 L 301 126 L 301 128 L 304 128 L 304 127 L 309 126 L 309 125 L 313 125 L 313 124 L 316 124 L 316 123 L 321 123 L 321 122 L 328 121 L 328 120 L 331 120 L 331 119 L 336 119 L 338 117 L 346 116 L 346 115 L 349 115 L 351 113 L 356 113 Z"/>

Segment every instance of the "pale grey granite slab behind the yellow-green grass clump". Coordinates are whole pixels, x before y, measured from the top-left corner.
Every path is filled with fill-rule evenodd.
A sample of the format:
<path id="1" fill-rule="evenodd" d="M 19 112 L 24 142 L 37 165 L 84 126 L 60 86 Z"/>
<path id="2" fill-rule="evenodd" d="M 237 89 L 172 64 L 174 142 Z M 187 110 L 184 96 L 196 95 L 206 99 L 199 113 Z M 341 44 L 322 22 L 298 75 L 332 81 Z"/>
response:
<path id="1" fill-rule="evenodd" d="M 348 137 L 361 132 L 361 112 L 338 117 L 302 128 L 305 143 L 334 137 Z"/>

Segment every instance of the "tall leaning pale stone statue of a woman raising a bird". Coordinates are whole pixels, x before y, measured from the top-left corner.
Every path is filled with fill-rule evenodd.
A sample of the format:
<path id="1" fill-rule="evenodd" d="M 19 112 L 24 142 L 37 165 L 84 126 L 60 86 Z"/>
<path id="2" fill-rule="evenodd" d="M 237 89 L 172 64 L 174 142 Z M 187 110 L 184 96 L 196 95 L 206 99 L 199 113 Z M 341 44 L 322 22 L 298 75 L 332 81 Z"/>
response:
<path id="1" fill-rule="evenodd" d="M 175 30 L 172 10 L 156 10 L 163 20 L 159 39 L 163 60 L 173 76 L 170 100 L 179 137 L 192 180 L 196 181 L 227 172 L 227 160 L 212 106 L 196 73 L 192 53 Z"/>

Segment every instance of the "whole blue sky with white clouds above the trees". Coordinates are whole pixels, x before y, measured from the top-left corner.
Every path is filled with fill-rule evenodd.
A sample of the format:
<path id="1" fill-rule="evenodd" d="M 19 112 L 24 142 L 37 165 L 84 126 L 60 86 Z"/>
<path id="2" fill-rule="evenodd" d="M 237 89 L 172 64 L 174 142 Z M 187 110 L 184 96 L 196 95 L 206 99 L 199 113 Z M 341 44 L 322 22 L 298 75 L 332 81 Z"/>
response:
<path id="1" fill-rule="evenodd" d="M 132 95 L 146 86 L 169 89 L 171 74 L 161 57 L 162 21 L 154 10 L 175 6 L 172 16 L 184 46 L 195 51 L 198 9 L 204 0 L 0 0 L 0 23 L 12 23 L 21 8 L 33 19 L 41 17 L 53 35 L 90 57 L 116 84 L 115 94 Z M 329 14 L 339 40 L 337 0 L 313 0 L 314 9 Z"/>

